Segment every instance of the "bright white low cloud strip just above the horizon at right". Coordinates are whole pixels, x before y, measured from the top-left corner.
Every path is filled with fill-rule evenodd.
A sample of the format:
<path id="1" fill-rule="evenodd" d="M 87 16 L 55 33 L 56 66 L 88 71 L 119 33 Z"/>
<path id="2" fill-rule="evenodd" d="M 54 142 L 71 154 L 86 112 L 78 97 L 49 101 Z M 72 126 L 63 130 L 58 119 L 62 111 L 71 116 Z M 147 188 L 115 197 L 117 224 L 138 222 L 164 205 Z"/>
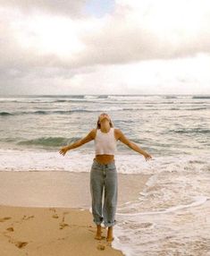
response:
<path id="1" fill-rule="evenodd" d="M 71 81 L 86 85 L 84 93 L 155 94 L 210 93 L 210 55 L 189 58 L 142 61 L 135 64 L 98 66 L 95 72 L 79 73 Z M 97 90 L 96 90 L 97 89 Z M 102 92 L 100 92 L 102 93 Z"/>

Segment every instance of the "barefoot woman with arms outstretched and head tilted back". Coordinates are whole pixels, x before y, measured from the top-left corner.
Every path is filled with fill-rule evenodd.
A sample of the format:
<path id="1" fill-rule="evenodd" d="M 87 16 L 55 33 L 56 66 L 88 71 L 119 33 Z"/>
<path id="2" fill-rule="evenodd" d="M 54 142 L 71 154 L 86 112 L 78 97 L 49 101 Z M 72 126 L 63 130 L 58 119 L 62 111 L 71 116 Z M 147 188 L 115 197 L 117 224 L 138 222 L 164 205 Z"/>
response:
<path id="1" fill-rule="evenodd" d="M 146 161 L 152 158 L 146 151 L 140 149 L 138 145 L 130 141 L 120 129 L 113 128 L 111 118 L 106 113 L 98 116 L 97 129 L 92 129 L 86 137 L 63 147 L 60 154 L 63 156 L 70 149 L 75 149 L 81 145 L 95 141 L 96 157 L 90 171 L 90 192 L 92 197 L 93 221 L 97 225 L 97 235 L 95 239 L 101 240 L 101 223 L 104 220 L 105 226 L 108 226 L 106 241 L 113 241 L 113 226 L 116 223 L 115 212 L 117 205 L 118 181 L 114 160 L 116 141 L 130 147 L 146 158 Z M 105 201 L 102 209 L 102 195 L 105 187 Z"/>

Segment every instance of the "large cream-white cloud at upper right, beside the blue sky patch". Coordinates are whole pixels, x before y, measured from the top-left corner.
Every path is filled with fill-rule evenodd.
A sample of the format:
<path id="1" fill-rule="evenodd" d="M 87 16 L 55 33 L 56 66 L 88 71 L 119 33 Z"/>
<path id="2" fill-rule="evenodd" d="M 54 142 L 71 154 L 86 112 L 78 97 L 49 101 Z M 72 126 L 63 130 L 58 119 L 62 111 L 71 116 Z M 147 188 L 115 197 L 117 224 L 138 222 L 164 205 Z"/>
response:
<path id="1" fill-rule="evenodd" d="M 117 1 L 98 31 L 85 34 L 80 64 L 121 64 L 210 52 L 209 1 Z"/>

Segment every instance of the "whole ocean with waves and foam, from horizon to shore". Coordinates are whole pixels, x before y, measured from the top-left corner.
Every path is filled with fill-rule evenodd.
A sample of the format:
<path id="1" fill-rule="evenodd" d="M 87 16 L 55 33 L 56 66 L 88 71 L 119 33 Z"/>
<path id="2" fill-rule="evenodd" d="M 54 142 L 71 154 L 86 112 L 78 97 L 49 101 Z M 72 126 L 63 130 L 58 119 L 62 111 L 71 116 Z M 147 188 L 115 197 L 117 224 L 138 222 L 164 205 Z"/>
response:
<path id="1" fill-rule="evenodd" d="M 117 142 L 117 171 L 151 177 L 136 201 L 118 206 L 113 247 L 126 256 L 210 255 L 210 96 L 8 96 L 0 107 L 1 171 L 89 172 L 94 141 L 65 157 L 59 150 L 108 113 L 153 157 Z"/>

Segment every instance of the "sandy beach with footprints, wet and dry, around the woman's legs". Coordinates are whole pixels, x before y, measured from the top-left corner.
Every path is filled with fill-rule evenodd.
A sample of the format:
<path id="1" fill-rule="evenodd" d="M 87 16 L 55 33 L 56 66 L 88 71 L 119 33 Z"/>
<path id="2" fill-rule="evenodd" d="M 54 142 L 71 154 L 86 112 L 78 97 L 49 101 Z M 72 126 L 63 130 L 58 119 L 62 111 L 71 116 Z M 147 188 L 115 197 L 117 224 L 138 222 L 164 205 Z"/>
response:
<path id="1" fill-rule="evenodd" d="M 121 205 L 138 198 L 149 175 L 118 177 Z M 123 255 L 105 228 L 94 239 L 90 206 L 88 173 L 0 172 L 1 256 Z"/>

